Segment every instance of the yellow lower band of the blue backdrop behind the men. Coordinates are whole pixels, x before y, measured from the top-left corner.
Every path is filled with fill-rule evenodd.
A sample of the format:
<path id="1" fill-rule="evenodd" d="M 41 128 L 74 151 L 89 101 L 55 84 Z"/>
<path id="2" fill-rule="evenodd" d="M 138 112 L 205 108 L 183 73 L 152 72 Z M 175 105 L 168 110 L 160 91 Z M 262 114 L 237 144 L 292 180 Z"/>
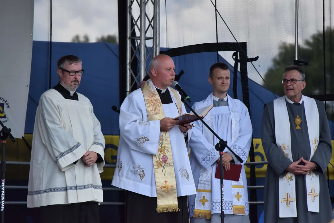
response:
<path id="1" fill-rule="evenodd" d="M 32 135 L 24 135 L 24 138 L 31 145 L 32 143 Z M 105 135 L 106 146 L 105 146 L 105 163 L 106 164 L 116 164 L 117 161 L 117 151 L 118 151 L 118 143 L 119 136 L 111 136 Z M 254 139 L 254 155 L 255 161 L 267 161 L 265 156 L 265 152 L 263 151 L 261 139 Z M 332 146 L 334 147 L 334 141 L 332 141 Z M 2 147 L 0 145 L 0 150 L 2 151 Z M 2 152 L 0 154 L 2 159 Z M 23 161 L 30 162 L 30 151 L 27 146 L 23 142 L 22 139 L 16 139 L 16 142 L 13 143 L 9 139 L 6 144 L 6 161 Z M 249 162 L 249 157 L 247 159 Z M 334 165 L 334 154 L 332 154 L 332 158 L 330 161 Z M 28 180 L 29 177 L 29 166 L 28 165 L 11 165 L 7 163 L 6 168 L 6 179 L 13 180 Z M 261 164 L 256 165 L 256 177 L 265 177 L 267 165 Z M 250 176 L 250 168 L 249 166 L 245 166 L 246 176 Z M 103 173 L 101 173 L 101 178 L 103 180 L 112 180 L 114 176 L 115 168 L 105 167 Z M 327 175 L 327 171 L 326 171 Z M 334 168 L 329 164 L 329 179 L 334 179 Z"/>

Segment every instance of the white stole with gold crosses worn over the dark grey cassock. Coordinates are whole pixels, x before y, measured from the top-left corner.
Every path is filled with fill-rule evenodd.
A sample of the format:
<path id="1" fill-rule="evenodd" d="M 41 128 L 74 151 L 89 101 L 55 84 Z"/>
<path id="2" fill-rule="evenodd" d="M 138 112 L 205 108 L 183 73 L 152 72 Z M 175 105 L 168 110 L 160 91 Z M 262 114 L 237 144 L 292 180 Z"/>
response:
<path id="1" fill-rule="evenodd" d="M 319 142 L 319 111 L 313 98 L 302 95 L 307 121 L 307 129 L 311 145 L 310 160 L 318 147 Z M 274 100 L 275 136 L 276 144 L 286 157 L 292 162 L 291 132 L 289 114 L 285 96 Z M 295 118 L 296 129 L 303 121 Z M 310 171 L 306 178 L 307 208 L 310 212 L 319 212 L 319 176 Z M 297 217 L 295 174 L 288 172 L 284 177 L 279 177 L 279 210 L 280 218 Z"/>

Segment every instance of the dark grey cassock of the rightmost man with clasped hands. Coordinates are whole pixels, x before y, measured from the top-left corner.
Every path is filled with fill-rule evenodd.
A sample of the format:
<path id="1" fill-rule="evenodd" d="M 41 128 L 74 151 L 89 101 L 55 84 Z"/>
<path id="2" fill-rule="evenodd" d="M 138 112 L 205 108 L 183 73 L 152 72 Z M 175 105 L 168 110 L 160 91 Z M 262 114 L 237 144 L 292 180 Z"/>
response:
<path id="1" fill-rule="evenodd" d="M 329 223 L 333 218 L 330 195 L 326 180 L 326 168 L 332 156 L 331 135 L 327 115 L 322 102 L 317 101 L 319 111 L 319 144 L 311 161 L 318 164 L 314 170 L 319 174 L 319 213 L 309 212 L 306 200 L 305 175 L 295 175 L 297 218 L 280 218 L 279 216 L 279 188 L 278 177 L 286 175 L 286 168 L 292 163 L 276 145 L 275 119 L 273 101 L 265 106 L 262 118 L 262 145 L 265 151 L 268 166 L 265 179 L 264 193 L 264 222 L 265 223 Z M 305 117 L 304 102 L 291 104 L 286 101 L 291 131 L 291 150 L 293 161 L 303 157 L 310 159 L 311 147 Z M 299 116 L 301 129 L 296 129 L 294 119 Z"/>

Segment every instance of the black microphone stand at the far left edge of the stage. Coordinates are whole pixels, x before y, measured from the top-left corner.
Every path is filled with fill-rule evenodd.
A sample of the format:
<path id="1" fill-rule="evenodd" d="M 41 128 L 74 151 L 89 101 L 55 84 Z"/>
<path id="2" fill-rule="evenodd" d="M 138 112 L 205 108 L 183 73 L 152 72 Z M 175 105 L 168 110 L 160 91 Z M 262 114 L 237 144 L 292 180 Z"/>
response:
<path id="1" fill-rule="evenodd" d="M 12 142 L 15 142 L 15 138 L 10 133 L 12 130 L 8 129 L 6 126 L 2 124 L 0 121 L 0 125 L 2 126 L 2 130 L 0 131 L 0 139 L 2 141 L 2 179 L 1 179 L 1 222 L 5 222 L 5 173 L 6 173 L 6 160 L 5 160 L 5 147 L 6 140 L 9 137 Z"/>

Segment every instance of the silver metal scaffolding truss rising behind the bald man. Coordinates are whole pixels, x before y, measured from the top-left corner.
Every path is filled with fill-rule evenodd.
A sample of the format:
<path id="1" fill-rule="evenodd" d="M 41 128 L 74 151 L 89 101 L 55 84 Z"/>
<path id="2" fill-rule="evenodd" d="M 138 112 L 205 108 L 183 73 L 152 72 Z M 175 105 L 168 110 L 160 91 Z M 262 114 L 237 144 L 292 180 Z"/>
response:
<path id="1" fill-rule="evenodd" d="M 127 6 L 126 95 L 128 96 L 133 86 L 148 75 L 145 66 L 147 59 L 151 60 L 160 52 L 160 0 L 127 0 Z M 153 14 L 152 17 L 149 16 L 150 13 Z M 147 36 L 148 34 L 153 34 L 153 37 Z M 153 40 L 151 48 L 146 45 L 146 41 L 150 40 Z M 138 64 L 132 66 L 134 60 L 139 61 L 139 72 Z M 134 70 L 134 67 L 137 70 Z"/>

